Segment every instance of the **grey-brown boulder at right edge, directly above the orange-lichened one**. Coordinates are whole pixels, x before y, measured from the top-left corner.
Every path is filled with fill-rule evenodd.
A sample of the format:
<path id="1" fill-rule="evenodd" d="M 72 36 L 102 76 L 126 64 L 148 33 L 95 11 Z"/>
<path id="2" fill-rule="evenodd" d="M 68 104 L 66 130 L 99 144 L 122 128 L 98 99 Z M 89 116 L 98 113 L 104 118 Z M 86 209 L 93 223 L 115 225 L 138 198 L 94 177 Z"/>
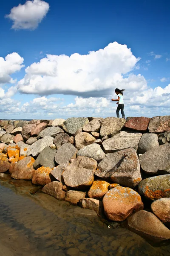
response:
<path id="1" fill-rule="evenodd" d="M 148 174 L 170 173 L 170 144 L 160 145 L 139 157 L 141 168 Z"/>

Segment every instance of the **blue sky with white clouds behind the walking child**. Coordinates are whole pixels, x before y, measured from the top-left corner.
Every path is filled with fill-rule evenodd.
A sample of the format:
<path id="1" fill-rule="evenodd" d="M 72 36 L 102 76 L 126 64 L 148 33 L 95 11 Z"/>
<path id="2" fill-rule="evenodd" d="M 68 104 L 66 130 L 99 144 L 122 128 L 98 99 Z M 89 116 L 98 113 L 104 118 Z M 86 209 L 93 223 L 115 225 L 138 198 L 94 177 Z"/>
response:
<path id="1" fill-rule="evenodd" d="M 0 118 L 116 116 L 116 87 L 126 116 L 170 113 L 168 0 L 2 2 Z"/>

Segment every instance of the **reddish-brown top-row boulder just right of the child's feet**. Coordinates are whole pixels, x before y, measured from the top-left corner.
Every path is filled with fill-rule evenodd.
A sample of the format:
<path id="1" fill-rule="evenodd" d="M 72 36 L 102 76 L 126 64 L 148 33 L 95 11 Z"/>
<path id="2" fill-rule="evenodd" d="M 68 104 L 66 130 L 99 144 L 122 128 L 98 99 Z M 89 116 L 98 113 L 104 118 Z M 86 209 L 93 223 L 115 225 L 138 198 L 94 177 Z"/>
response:
<path id="1" fill-rule="evenodd" d="M 125 123 L 125 127 L 135 131 L 147 131 L 150 118 L 148 117 L 132 117 Z"/>

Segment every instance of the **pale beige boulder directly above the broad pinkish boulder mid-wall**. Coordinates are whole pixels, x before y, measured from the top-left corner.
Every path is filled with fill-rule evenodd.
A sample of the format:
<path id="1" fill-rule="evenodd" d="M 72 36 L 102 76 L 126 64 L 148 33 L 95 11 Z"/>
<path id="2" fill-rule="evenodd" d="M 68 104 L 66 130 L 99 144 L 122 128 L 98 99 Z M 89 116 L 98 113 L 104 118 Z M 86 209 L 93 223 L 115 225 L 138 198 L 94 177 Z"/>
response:
<path id="1" fill-rule="evenodd" d="M 80 149 L 77 156 L 94 158 L 96 161 L 101 161 L 105 157 L 105 153 L 102 151 L 100 145 L 94 143 Z"/>

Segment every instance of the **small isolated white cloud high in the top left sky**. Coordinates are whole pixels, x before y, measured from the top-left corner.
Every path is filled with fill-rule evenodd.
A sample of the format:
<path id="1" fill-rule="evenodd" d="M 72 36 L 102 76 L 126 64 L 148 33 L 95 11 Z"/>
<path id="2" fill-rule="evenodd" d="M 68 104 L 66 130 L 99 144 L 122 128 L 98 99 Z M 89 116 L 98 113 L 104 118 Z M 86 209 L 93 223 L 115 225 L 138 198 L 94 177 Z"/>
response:
<path id="1" fill-rule="evenodd" d="M 36 29 L 48 13 L 49 4 L 42 0 L 26 1 L 13 7 L 7 18 L 13 21 L 12 29 Z"/>

